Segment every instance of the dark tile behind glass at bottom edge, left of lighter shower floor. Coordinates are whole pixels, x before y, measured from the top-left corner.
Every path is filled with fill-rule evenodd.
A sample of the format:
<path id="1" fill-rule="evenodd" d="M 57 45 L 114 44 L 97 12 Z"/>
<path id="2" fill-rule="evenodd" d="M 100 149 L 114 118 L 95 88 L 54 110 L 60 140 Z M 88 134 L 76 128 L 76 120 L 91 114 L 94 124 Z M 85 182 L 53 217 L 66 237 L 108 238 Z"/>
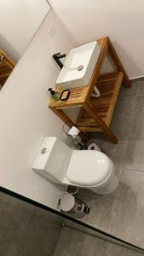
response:
<path id="1" fill-rule="evenodd" d="M 60 229 L 60 224 L 33 215 L 24 236 L 21 238 L 18 255 L 53 256 Z"/>

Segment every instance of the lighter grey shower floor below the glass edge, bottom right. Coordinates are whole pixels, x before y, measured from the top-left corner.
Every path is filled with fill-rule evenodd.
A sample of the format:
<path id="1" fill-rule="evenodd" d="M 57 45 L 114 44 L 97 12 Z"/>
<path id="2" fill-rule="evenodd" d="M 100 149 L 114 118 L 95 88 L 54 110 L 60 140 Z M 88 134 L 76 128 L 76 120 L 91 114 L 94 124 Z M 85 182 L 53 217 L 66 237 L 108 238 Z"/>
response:
<path id="1" fill-rule="evenodd" d="M 142 256 L 99 237 L 90 236 L 79 230 L 64 226 L 55 249 L 55 256 Z"/>

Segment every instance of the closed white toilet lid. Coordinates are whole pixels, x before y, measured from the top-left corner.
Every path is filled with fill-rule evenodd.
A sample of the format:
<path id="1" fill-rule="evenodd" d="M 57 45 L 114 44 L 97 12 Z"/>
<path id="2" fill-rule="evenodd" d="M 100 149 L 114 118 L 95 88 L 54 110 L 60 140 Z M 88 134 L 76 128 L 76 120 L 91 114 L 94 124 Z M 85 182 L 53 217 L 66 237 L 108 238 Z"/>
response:
<path id="1" fill-rule="evenodd" d="M 103 182 L 111 171 L 106 154 L 92 150 L 74 150 L 66 178 L 73 184 L 94 186 Z"/>

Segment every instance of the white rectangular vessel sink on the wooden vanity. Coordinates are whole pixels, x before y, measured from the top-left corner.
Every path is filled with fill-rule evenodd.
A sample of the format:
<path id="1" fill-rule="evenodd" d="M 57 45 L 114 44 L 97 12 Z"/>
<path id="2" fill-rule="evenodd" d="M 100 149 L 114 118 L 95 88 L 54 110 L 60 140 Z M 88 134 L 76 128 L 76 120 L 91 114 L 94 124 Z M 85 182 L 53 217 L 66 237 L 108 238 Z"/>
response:
<path id="1" fill-rule="evenodd" d="M 96 41 L 71 49 L 56 84 L 62 89 L 89 84 L 99 55 L 100 47 Z"/>

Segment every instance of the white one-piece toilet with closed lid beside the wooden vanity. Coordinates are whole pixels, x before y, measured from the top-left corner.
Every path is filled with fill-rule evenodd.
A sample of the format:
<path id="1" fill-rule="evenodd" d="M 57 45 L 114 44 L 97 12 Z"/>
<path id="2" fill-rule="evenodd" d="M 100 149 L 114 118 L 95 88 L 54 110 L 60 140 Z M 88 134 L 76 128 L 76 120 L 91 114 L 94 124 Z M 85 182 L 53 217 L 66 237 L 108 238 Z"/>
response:
<path id="1" fill-rule="evenodd" d="M 114 165 L 106 154 L 93 150 L 73 150 L 56 137 L 45 137 L 32 169 L 54 183 L 112 193 L 118 186 Z"/>

